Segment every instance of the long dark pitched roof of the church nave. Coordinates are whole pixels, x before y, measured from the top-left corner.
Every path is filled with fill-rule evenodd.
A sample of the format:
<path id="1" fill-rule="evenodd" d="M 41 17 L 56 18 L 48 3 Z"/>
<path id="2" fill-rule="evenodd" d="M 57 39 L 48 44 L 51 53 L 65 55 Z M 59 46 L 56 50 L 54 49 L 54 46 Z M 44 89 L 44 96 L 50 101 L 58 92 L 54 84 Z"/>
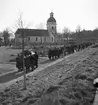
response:
<path id="1" fill-rule="evenodd" d="M 48 30 L 45 29 L 24 29 L 19 28 L 15 34 L 23 34 L 25 32 L 25 37 L 27 36 L 39 36 L 39 37 L 49 37 Z"/>

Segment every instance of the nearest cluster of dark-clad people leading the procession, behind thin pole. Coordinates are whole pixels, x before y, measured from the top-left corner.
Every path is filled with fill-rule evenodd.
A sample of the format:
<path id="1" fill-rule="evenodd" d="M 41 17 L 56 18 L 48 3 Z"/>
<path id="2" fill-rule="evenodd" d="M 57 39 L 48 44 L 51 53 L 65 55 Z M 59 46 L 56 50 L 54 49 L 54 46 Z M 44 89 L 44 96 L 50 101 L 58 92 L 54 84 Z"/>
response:
<path id="1" fill-rule="evenodd" d="M 18 71 L 23 70 L 23 53 L 19 53 L 16 57 L 16 67 Z M 38 67 L 38 54 L 32 50 L 25 50 L 24 51 L 24 69 L 26 72 L 33 71 L 35 68 Z"/>

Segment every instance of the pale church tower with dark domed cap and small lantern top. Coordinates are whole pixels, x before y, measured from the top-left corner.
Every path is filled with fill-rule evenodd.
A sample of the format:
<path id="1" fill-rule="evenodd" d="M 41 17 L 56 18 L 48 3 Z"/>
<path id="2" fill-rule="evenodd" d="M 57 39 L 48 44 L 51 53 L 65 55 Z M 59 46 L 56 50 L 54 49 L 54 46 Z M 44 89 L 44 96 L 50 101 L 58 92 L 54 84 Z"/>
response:
<path id="1" fill-rule="evenodd" d="M 56 20 L 53 17 L 53 12 L 50 13 L 50 17 L 47 20 L 47 30 L 48 30 L 50 36 L 56 35 Z"/>

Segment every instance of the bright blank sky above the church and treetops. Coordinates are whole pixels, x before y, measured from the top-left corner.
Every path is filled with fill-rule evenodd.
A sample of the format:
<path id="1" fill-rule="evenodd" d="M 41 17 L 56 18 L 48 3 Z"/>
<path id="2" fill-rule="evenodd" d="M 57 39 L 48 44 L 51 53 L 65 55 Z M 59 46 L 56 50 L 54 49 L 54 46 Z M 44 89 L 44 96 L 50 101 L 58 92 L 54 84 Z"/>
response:
<path id="1" fill-rule="evenodd" d="M 20 12 L 30 28 L 46 28 L 51 11 L 58 31 L 74 31 L 77 25 L 86 30 L 98 27 L 98 0 L 0 0 L 0 31 L 12 28 Z"/>

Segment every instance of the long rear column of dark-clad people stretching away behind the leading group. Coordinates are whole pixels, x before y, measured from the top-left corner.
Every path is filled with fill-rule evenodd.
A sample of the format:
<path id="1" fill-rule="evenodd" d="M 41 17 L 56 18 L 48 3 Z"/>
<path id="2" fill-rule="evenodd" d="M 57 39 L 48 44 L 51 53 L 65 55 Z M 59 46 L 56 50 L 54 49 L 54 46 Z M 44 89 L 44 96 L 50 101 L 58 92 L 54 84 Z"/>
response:
<path id="1" fill-rule="evenodd" d="M 64 56 L 68 54 L 72 54 L 74 52 L 77 52 L 79 50 L 82 50 L 88 46 L 90 46 L 92 43 L 82 43 L 82 44 L 75 44 L 75 45 L 67 45 L 63 47 L 50 47 L 48 50 L 48 58 L 51 59 L 56 59 L 59 58 L 61 54 Z"/>

